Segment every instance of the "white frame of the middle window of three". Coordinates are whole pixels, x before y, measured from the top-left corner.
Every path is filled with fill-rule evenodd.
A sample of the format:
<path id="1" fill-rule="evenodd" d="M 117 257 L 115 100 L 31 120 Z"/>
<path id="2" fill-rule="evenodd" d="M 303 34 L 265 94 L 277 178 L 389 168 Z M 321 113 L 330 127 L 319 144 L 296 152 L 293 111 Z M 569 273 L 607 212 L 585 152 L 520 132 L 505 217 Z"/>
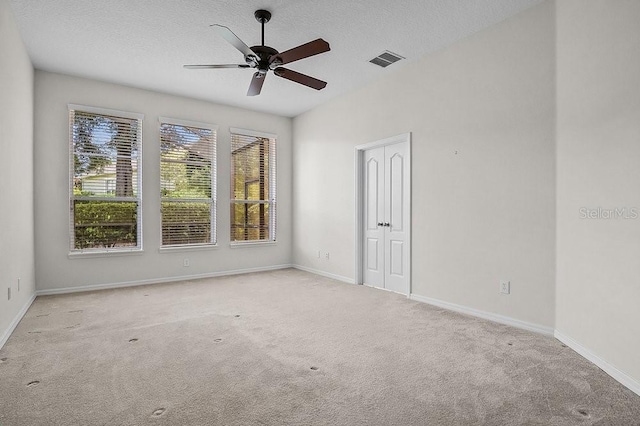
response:
<path id="1" fill-rule="evenodd" d="M 170 117 L 158 117 L 158 144 L 160 147 L 158 165 L 160 166 L 160 173 L 162 170 L 162 124 L 169 124 L 174 126 L 195 127 L 199 129 L 211 130 L 213 132 L 213 142 L 211 146 L 211 214 L 209 217 L 209 224 L 211 226 L 211 242 L 207 243 L 188 243 L 188 244 L 163 244 L 162 242 L 162 202 L 165 197 L 162 196 L 162 179 L 159 179 L 158 194 L 160 197 L 160 251 L 176 251 L 176 250 L 192 250 L 199 248 L 209 248 L 218 246 L 218 129 L 219 126 L 213 123 L 205 123 L 201 121 L 183 120 Z M 202 201 L 204 198 L 189 198 L 189 199 L 172 199 L 178 202 L 189 201 Z"/>

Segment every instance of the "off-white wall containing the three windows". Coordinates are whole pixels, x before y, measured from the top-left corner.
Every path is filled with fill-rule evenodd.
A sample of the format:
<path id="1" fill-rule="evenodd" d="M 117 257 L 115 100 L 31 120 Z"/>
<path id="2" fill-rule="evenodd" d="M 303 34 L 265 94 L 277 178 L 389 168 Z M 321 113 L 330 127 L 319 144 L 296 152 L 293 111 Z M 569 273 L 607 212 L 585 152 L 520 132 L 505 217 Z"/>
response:
<path id="1" fill-rule="evenodd" d="M 142 255 L 69 258 L 69 103 L 145 114 Z M 218 245 L 162 252 L 158 117 L 219 125 Z M 291 119 L 130 87 L 37 71 L 35 75 L 36 281 L 38 290 L 178 279 L 287 265 L 291 259 Z M 229 247 L 229 127 L 278 135 L 277 244 Z M 190 266 L 183 266 L 183 259 Z"/>

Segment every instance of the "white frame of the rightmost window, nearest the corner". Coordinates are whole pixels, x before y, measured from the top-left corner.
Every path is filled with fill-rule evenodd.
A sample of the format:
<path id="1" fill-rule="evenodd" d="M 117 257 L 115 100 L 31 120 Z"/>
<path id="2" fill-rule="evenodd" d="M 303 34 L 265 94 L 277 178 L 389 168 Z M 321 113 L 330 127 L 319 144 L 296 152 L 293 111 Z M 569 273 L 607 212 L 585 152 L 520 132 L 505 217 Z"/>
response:
<path id="1" fill-rule="evenodd" d="M 269 197 L 267 200 L 237 200 L 235 199 L 235 193 L 231 185 L 233 184 L 233 162 L 234 162 L 234 151 L 233 148 L 230 148 L 230 170 L 229 170 L 229 185 L 230 185 L 230 194 L 229 194 L 229 207 L 231 208 L 233 205 L 241 203 L 241 204 L 266 204 L 269 206 L 269 237 L 267 239 L 262 240 L 233 240 L 233 232 L 231 227 L 233 226 L 233 218 L 229 217 L 229 245 L 231 247 L 242 247 L 242 246 L 251 246 L 251 245 L 273 245 L 277 242 L 277 139 L 278 136 L 274 133 L 267 133 L 256 130 L 248 130 L 241 129 L 237 127 L 230 127 L 230 146 L 233 141 L 234 136 L 247 136 L 247 137 L 255 137 L 255 138 L 265 138 L 269 139 L 269 149 L 267 155 L 269 156 L 269 169 L 268 169 L 268 181 L 269 181 Z"/>

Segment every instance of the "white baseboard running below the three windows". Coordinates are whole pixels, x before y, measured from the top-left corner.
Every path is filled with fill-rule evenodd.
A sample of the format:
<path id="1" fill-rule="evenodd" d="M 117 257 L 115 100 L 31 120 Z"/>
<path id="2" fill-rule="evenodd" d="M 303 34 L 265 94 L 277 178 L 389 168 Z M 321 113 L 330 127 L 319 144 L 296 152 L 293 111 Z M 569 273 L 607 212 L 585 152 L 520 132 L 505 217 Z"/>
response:
<path id="1" fill-rule="evenodd" d="M 257 268 L 234 269 L 234 270 L 219 271 L 219 272 L 207 272 L 204 274 L 195 274 L 195 275 L 182 275 L 179 277 L 152 278 L 147 280 L 123 281 L 119 283 L 54 288 L 54 289 L 37 290 L 36 295 L 48 296 L 52 294 L 68 294 L 68 293 L 78 293 L 78 292 L 84 292 L 84 291 L 106 290 L 111 288 L 136 287 L 140 285 L 162 284 L 162 283 L 171 283 L 176 281 L 199 280 L 203 278 L 215 278 L 215 277 L 224 277 L 229 275 L 250 274 L 253 272 L 275 271 L 275 270 L 286 269 L 291 267 L 292 265 L 261 266 Z"/>

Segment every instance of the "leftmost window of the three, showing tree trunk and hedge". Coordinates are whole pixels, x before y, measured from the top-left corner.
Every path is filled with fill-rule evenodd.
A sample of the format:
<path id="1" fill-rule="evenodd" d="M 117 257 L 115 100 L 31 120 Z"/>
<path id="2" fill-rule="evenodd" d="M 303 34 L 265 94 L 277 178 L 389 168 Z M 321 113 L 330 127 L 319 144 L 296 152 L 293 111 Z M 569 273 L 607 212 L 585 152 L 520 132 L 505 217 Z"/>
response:
<path id="1" fill-rule="evenodd" d="M 72 253 L 142 249 L 142 118 L 69 105 Z"/>

